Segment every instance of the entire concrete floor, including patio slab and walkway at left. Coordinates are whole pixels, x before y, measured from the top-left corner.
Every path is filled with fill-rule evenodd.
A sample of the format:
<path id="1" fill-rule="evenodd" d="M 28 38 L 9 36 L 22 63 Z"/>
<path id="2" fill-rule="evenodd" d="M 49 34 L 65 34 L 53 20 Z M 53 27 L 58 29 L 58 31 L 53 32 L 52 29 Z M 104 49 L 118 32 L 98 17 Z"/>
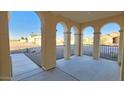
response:
<path id="1" fill-rule="evenodd" d="M 24 54 L 12 54 L 13 79 L 20 81 L 119 81 L 120 67 L 114 61 L 89 56 L 58 60 L 57 67 L 43 71 Z"/>

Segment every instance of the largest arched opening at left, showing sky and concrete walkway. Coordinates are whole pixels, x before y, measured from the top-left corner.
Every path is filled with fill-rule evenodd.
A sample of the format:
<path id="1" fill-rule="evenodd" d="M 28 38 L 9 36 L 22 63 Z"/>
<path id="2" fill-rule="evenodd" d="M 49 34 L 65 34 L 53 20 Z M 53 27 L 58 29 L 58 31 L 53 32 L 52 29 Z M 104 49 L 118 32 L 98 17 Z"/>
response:
<path id="1" fill-rule="evenodd" d="M 13 77 L 30 72 L 38 68 L 37 65 L 41 65 L 41 26 L 41 20 L 35 12 L 9 12 Z"/>

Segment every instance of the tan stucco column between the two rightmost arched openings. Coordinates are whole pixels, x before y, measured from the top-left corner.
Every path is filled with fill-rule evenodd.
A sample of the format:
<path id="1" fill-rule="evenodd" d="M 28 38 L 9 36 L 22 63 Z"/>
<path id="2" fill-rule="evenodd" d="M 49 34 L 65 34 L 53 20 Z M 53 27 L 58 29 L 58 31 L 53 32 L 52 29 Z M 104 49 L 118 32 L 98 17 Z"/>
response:
<path id="1" fill-rule="evenodd" d="M 100 57 L 100 32 L 94 32 L 94 44 L 93 44 L 93 58 L 99 59 Z"/>

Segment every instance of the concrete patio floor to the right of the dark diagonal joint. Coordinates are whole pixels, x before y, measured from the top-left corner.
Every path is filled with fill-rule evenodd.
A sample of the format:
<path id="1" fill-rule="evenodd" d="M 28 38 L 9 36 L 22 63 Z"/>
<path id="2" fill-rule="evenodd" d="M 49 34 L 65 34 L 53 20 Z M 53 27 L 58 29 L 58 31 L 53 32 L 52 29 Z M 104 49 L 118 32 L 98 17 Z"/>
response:
<path id="1" fill-rule="evenodd" d="M 72 57 L 68 62 L 60 60 L 57 67 L 78 80 L 117 81 L 120 80 L 118 63 L 110 60 L 94 60 L 92 57 Z"/>

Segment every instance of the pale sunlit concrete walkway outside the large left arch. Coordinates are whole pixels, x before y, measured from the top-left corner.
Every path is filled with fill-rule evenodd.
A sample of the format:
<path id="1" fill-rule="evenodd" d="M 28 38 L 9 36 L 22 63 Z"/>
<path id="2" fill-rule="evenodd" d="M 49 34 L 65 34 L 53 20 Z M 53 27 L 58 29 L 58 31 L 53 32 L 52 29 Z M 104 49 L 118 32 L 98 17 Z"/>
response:
<path id="1" fill-rule="evenodd" d="M 12 59 L 12 76 L 16 77 L 18 75 L 29 73 L 39 67 L 34 64 L 27 56 L 23 53 L 11 54 Z"/>

